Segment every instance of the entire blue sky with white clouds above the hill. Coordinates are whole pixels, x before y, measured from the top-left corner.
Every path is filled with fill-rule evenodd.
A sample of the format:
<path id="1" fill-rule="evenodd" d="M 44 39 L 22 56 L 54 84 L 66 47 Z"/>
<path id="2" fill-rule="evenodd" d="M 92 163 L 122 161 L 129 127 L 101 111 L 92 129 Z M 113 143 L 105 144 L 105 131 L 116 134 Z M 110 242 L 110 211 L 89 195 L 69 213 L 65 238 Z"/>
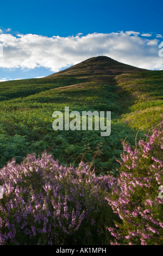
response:
<path id="1" fill-rule="evenodd" d="M 1 1 L 0 81 L 105 55 L 163 70 L 162 0 Z"/>

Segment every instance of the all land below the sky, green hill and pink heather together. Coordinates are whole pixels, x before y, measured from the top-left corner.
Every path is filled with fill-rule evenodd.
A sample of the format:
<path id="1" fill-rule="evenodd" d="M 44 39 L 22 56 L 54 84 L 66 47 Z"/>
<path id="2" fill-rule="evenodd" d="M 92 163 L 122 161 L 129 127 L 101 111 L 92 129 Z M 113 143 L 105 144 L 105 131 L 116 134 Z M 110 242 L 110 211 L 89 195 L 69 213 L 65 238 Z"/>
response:
<path id="1" fill-rule="evenodd" d="M 162 77 L 96 57 L 0 83 L 1 245 L 162 244 Z M 111 111 L 111 135 L 54 131 L 66 106 Z"/>

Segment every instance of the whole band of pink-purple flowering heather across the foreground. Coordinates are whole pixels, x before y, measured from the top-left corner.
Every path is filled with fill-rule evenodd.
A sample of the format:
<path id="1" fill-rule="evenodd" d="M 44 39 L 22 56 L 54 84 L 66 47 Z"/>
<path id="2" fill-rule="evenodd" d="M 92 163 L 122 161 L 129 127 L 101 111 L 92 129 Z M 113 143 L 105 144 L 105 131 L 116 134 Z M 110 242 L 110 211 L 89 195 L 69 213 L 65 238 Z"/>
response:
<path id="1" fill-rule="evenodd" d="M 124 143 L 117 177 L 45 153 L 9 162 L 0 170 L 0 245 L 162 245 L 162 126 L 139 149 Z"/>

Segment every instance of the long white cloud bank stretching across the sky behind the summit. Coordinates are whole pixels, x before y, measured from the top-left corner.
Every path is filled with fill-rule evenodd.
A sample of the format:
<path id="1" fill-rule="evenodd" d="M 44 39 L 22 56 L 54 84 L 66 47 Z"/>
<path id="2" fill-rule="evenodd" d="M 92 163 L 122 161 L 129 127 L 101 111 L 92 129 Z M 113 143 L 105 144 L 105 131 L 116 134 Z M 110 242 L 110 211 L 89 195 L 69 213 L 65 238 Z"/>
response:
<path id="1" fill-rule="evenodd" d="M 159 38 L 142 38 L 139 32 L 92 33 L 76 36 L 0 34 L 3 44 L 1 68 L 34 69 L 44 67 L 57 72 L 99 55 L 145 69 L 163 69 L 159 57 Z"/>

